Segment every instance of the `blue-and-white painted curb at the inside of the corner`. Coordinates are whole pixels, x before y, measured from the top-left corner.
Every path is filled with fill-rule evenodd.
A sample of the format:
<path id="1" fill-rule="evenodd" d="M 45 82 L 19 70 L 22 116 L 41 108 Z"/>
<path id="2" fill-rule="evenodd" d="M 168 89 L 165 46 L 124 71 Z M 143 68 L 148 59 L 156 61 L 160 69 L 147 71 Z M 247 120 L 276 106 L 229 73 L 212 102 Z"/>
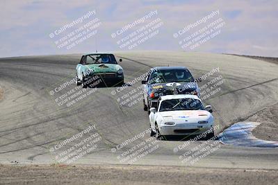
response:
<path id="1" fill-rule="evenodd" d="M 277 141 L 266 141 L 263 139 L 257 139 L 252 134 L 252 130 L 261 123 L 256 122 L 240 122 L 220 134 L 222 137 L 220 141 L 224 144 L 233 146 L 252 146 L 252 147 L 262 147 L 262 148 L 275 148 L 278 147 Z"/>

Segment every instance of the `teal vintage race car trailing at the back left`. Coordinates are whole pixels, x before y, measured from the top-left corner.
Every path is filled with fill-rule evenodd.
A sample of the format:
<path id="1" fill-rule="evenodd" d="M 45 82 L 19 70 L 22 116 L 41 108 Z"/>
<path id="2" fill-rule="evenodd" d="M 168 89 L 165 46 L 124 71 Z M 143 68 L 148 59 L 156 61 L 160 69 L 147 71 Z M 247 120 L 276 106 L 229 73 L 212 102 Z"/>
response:
<path id="1" fill-rule="evenodd" d="M 85 88 L 100 80 L 105 85 L 124 85 L 124 71 L 115 56 L 111 53 L 83 55 L 76 66 L 76 84 Z"/>

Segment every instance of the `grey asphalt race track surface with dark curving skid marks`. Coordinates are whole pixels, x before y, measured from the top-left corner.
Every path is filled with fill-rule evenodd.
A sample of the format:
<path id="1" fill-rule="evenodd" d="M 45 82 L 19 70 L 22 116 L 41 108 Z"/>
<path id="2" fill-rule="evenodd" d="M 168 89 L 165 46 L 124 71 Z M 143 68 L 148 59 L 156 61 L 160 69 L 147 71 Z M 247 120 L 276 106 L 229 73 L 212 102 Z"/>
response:
<path id="1" fill-rule="evenodd" d="M 277 64 L 211 53 L 138 51 L 115 55 L 123 59 L 120 64 L 124 69 L 125 82 L 155 66 L 186 66 L 195 77 L 219 67 L 220 73 L 199 84 L 202 86 L 219 75 L 225 79 L 220 86 L 221 91 L 204 100 L 206 105 L 213 106 L 215 124 L 220 125 L 218 133 L 278 102 Z M 0 100 L 0 163 L 55 164 L 55 155 L 49 150 L 89 125 L 95 125 L 101 141 L 95 150 L 74 164 L 127 164 L 126 161 L 120 162 L 117 156 L 149 138 L 146 134 L 144 138 L 111 152 L 126 139 L 149 127 L 142 101 L 131 106 L 118 102 L 118 98 L 138 88 L 140 81 L 120 92 L 117 92 L 118 87 L 101 87 L 70 107 L 58 106 L 54 98 L 61 94 L 51 96 L 49 91 L 74 78 L 80 58 L 81 55 L 48 55 L 0 59 L 0 88 L 3 89 Z M 75 87 L 72 84 L 67 89 Z M 111 93 L 113 91 L 116 91 L 115 95 Z M 174 148 L 184 141 L 158 141 L 158 149 L 133 164 L 188 166 L 181 162 L 179 156 L 204 142 L 196 141 L 174 152 Z M 278 169 L 277 154 L 278 148 L 221 145 L 193 166 Z"/>

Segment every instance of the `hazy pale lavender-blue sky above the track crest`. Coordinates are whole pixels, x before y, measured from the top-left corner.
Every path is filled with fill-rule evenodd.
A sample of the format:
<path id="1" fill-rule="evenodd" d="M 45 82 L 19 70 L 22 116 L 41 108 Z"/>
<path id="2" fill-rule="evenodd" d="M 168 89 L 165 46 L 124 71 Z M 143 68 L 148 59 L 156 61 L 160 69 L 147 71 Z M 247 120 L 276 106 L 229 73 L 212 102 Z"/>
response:
<path id="1" fill-rule="evenodd" d="M 96 49 L 98 51 L 202 51 L 278 57 L 277 0 L 0 0 L 0 6 L 0 57 L 90 53 L 95 52 Z M 219 15 L 214 15 L 211 19 L 202 22 L 177 38 L 173 37 L 174 33 L 179 33 L 179 30 L 217 10 L 219 10 Z M 137 21 L 132 28 L 128 28 L 124 33 L 116 35 L 115 38 L 111 37 L 113 33 L 120 33 L 120 30 L 127 24 L 132 24 L 154 11 L 157 12 L 157 15 L 145 19 L 145 22 L 138 23 Z M 76 22 L 80 17 L 88 15 L 88 12 L 89 16 L 86 19 L 84 18 L 82 22 Z M 190 36 L 195 31 L 220 18 L 224 21 L 224 26 L 219 29 L 218 35 L 206 40 L 195 49 L 184 50 L 181 48 L 180 39 Z M 117 44 L 120 39 L 124 39 L 133 31 L 152 23 L 154 20 L 159 20 L 162 24 L 154 29 L 156 33 L 149 39 L 140 42 L 132 49 L 120 48 L 120 44 Z M 84 27 L 89 21 L 96 21 L 94 24 L 99 24 L 95 28 L 97 33 L 92 34 L 91 37 L 86 37 L 88 34 L 83 35 L 86 37 L 83 40 L 81 37 L 74 39 L 73 37 L 78 35 L 76 30 Z M 74 24 L 70 28 L 63 30 L 63 33 L 58 33 L 61 27 L 73 22 Z M 51 33 L 54 34 L 53 38 L 49 36 Z M 63 37 L 63 41 L 57 42 Z M 68 49 L 66 46 L 59 49 L 58 45 L 66 41 L 67 44 L 77 41 L 79 43 Z"/>

